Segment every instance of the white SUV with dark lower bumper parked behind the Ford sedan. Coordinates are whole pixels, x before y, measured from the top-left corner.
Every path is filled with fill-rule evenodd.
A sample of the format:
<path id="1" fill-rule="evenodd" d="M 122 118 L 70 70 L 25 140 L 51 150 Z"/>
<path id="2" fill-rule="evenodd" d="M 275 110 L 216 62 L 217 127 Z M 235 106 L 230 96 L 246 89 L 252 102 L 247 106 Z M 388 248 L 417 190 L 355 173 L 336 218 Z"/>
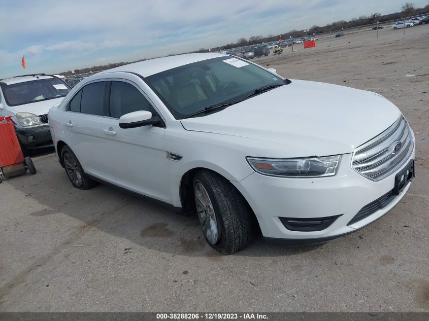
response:
<path id="1" fill-rule="evenodd" d="M 71 88 L 51 75 L 34 74 L 0 79 L 0 116 L 14 116 L 24 156 L 31 150 L 53 146 L 50 129 L 40 116 L 67 95 Z"/>

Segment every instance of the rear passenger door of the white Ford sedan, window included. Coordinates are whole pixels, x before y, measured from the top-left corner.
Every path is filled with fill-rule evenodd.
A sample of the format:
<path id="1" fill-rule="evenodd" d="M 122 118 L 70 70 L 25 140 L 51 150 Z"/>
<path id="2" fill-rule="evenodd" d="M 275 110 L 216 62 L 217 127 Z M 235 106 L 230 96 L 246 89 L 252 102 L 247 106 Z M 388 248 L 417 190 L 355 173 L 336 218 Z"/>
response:
<path id="1" fill-rule="evenodd" d="M 66 109 L 64 130 L 67 144 L 76 154 L 85 172 L 101 176 L 103 163 L 101 124 L 105 114 L 106 81 L 85 85 L 70 100 Z"/>

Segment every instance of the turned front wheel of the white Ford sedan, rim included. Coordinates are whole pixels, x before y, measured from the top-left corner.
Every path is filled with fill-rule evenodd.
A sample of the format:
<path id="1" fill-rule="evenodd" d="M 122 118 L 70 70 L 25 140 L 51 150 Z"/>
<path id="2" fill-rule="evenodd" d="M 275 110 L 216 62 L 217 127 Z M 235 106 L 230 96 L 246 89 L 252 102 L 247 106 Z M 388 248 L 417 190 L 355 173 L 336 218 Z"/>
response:
<path id="1" fill-rule="evenodd" d="M 249 205 L 224 177 L 210 170 L 193 179 L 195 207 L 204 237 L 221 254 L 233 254 L 252 239 Z"/>

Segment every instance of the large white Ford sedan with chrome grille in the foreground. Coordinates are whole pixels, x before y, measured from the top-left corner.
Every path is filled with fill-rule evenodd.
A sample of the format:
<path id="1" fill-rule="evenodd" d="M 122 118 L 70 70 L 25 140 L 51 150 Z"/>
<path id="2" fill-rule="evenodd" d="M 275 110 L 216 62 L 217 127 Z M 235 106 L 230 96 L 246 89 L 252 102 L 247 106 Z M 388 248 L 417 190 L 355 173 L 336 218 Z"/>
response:
<path id="1" fill-rule="evenodd" d="M 85 78 L 49 124 L 74 187 L 107 182 L 198 216 L 223 254 L 250 244 L 253 223 L 287 244 L 357 231 L 397 204 L 414 176 L 414 134 L 383 96 L 290 81 L 224 54 Z"/>

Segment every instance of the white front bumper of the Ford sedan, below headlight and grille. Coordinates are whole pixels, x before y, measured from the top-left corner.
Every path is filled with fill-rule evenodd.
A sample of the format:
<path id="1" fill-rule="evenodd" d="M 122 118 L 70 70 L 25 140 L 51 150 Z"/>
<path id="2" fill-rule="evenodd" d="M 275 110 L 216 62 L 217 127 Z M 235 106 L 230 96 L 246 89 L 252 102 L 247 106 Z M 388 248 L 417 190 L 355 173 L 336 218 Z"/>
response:
<path id="1" fill-rule="evenodd" d="M 374 182 L 351 168 L 353 154 L 345 154 L 335 176 L 303 179 L 266 176 L 253 173 L 240 182 L 232 182 L 252 207 L 262 235 L 268 241 L 287 241 L 291 245 L 325 242 L 355 232 L 374 222 L 396 205 L 410 187 L 408 184 L 390 202 L 371 215 L 350 223 L 362 207 L 394 188 L 395 175 L 411 159 L 384 179 Z M 283 218 L 326 218 L 339 216 L 320 231 L 292 231 L 280 221 Z"/>

